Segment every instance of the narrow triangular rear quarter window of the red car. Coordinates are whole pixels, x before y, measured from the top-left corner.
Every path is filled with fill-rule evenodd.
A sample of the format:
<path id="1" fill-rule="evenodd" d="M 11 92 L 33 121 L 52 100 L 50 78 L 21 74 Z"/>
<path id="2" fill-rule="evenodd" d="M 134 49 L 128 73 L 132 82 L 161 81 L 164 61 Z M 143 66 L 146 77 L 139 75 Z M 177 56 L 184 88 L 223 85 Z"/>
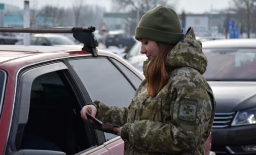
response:
<path id="1" fill-rule="evenodd" d="M 125 72 L 125 74 L 131 79 L 133 85 L 137 88 L 141 82 L 141 79 L 139 79 L 137 75 L 135 75 L 130 69 L 121 64 L 119 61 L 115 59 L 113 59 L 113 61 L 115 61 L 115 63 Z"/>

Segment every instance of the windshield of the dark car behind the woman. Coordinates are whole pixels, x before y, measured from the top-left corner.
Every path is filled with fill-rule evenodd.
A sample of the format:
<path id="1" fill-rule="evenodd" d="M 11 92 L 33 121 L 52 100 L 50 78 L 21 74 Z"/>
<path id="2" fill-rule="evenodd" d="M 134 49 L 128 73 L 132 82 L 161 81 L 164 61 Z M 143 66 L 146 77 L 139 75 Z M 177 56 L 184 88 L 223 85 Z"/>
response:
<path id="1" fill-rule="evenodd" d="M 204 49 L 208 81 L 255 81 L 256 50 L 250 48 Z"/>

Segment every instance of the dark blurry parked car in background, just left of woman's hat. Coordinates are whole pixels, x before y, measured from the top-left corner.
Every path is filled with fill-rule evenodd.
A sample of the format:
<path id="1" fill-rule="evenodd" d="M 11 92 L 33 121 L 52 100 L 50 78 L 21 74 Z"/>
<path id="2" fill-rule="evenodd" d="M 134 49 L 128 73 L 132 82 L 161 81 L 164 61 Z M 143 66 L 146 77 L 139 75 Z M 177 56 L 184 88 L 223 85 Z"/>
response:
<path id="1" fill-rule="evenodd" d="M 135 38 L 125 32 L 109 32 L 105 36 L 105 46 L 116 46 L 118 48 L 132 46 L 135 43 Z"/>

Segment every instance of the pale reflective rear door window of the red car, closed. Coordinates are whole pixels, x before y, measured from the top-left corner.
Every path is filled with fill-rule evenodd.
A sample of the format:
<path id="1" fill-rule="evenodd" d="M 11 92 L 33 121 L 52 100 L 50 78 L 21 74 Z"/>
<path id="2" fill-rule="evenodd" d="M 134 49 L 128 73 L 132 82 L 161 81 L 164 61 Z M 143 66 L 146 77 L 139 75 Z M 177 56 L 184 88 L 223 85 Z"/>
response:
<path id="1" fill-rule="evenodd" d="M 135 89 L 106 58 L 69 60 L 80 76 L 92 101 L 108 105 L 129 105 Z"/>

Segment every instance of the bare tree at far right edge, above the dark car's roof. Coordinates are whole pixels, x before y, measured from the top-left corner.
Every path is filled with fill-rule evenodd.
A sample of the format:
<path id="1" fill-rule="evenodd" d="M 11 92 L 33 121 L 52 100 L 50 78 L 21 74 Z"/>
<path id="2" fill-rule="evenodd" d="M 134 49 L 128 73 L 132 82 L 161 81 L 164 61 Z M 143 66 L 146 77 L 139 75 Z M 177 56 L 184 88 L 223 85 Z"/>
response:
<path id="1" fill-rule="evenodd" d="M 247 37 L 250 38 L 250 33 L 255 30 L 256 16 L 256 0 L 233 0 L 237 17 L 245 27 Z M 254 25 L 254 27 L 252 27 Z"/>

